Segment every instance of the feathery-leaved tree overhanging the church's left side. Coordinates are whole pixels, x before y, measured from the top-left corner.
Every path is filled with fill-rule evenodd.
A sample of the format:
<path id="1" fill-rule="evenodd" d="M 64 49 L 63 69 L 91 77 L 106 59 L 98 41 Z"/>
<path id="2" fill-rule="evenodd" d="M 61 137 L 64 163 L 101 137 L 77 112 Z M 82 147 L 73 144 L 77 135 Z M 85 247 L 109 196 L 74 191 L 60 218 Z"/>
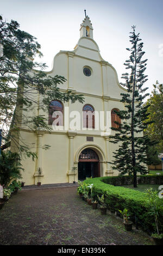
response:
<path id="1" fill-rule="evenodd" d="M 3 48 L 0 52 L 0 128 L 4 143 L 12 141 L 21 154 L 34 158 L 35 145 L 21 138 L 20 126 L 32 131 L 40 127 L 51 131 L 47 117 L 39 111 L 48 112 L 52 100 L 83 103 L 84 98 L 70 90 L 60 91 L 58 85 L 66 78 L 43 72 L 46 64 L 34 61 L 35 57 L 43 56 L 40 44 L 19 27 L 17 21 L 9 23 L 0 15 L 0 47 Z M 44 145 L 45 149 L 48 147 Z"/>

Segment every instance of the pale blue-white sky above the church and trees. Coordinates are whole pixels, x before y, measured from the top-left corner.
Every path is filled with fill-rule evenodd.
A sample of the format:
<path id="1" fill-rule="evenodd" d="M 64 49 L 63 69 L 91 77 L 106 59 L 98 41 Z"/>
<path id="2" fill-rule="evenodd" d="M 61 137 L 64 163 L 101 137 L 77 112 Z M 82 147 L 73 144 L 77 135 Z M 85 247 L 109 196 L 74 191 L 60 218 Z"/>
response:
<path id="1" fill-rule="evenodd" d="M 8 22 L 16 20 L 20 29 L 37 38 L 43 53 L 42 62 L 52 69 L 55 54 L 60 50 L 72 51 L 80 36 L 80 23 L 85 14 L 93 26 L 93 39 L 101 56 L 114 66 L 121 79 L 126 72 L 123 63 L 128 59 L 129 32 L 136 32 L 144 43 L 144 58 L 148 59 L 145 86 L 151 93 L 152 84 L 163 83 L 163 1 L 162 0 L 5 0 L 0 14 Z M 60 75 L 60 74 L 58 74 Z"/>

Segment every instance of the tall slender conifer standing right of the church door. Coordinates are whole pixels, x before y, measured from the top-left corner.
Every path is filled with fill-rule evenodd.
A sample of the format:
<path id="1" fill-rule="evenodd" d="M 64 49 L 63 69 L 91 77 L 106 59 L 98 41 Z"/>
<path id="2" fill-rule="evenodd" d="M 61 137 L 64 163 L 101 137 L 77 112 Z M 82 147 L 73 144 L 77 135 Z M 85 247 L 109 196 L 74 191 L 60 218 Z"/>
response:
<path id="1" fill-rule="evenodd" d="M 121 123 L 115 121 L 118 127 L 111 128 L 115 131 L 115 135 L 110 136 L 111 142 L 120 143 L 118 149 L 114 152 L 111 168 L 118 170 L 120 175 L 132 175 L 134 177 L 134 187 L 137 187 L 137 172 L 140 174 L 147 173 L 147 147 L 154 142 L 150 142 L 147 136 L 142 136 L 143 130 L 149 123 L 152 123 L 152 121 L 146 121 L 149 105 L 143 105 L 143 100 L 149 95 L 145 93 L 148 88 L 143 88 L 143 84 L 148 80 L 147 75 L 144 74 L 147 59 L 141 60 L 145 54 L 142 51 L 143 42 L 140 42 L 140 33 L 135 34 L 135 26 L 131 28 L 133 29 L 129 36 L 131 48 L 127 48 L 130 57 L 124 63 L 126 69 L 130 69 L 130 74 L 122 74 L 126 83 L 121 83 L 127 89 L 127 93 L 121 94 L 121 102 L 124 103 L 126 110 L 116 112 L 121 118 Z"/>

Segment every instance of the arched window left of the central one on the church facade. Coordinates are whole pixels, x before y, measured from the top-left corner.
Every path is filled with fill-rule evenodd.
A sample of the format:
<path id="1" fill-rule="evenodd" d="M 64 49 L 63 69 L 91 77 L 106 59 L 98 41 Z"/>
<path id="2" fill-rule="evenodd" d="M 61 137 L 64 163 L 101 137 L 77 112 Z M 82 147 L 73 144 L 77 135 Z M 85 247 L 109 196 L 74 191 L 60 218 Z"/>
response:
<path id="1" fill-rule="evenodd" d="M 58 100 L 52 100 L 51 103 L 49 104 L 49 120 L 48 124 L 49 125 L 63 125 L 64 124 L 64 118 L 63 118 L 63 113 L 64 113 L 64 108 L 63 105 L 60 101 Z M 54 123 L 53 123 L 54 122 Z"/>

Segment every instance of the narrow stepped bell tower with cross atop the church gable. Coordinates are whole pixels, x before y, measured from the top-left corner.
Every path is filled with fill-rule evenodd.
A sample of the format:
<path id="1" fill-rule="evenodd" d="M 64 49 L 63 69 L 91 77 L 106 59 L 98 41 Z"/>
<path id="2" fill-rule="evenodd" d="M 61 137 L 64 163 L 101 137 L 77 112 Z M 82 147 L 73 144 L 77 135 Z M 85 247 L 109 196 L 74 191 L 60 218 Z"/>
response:
<path id="1" fill-rule="evenodd" d="M 92 28 L 92 23 L 90 21 L 89 16 L 86 15 L 86 10 L 85 11 L 85 19 L 83 20 L 83 23 L 81 24 L 80 27 L 80 38 L 83 36 L 86 36 L 88 38 L 93 39 L 93 28 Z"/>

